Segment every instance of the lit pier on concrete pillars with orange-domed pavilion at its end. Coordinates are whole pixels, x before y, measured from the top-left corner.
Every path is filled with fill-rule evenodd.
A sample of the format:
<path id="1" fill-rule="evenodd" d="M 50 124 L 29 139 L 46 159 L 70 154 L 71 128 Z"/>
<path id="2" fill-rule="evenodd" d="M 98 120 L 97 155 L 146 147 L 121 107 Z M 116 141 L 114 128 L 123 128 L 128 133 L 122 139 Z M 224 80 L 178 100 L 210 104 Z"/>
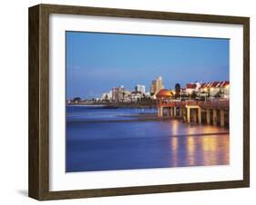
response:
<path id="1" fill-rule="evenodd" d="M 177 101 L 167 92 L 157 96 L 158 116 L 182 117 L 184 122 L 198 122 L 221 127 L 229 125 L 230 102 L 228 99 L 212 101 Z"/>

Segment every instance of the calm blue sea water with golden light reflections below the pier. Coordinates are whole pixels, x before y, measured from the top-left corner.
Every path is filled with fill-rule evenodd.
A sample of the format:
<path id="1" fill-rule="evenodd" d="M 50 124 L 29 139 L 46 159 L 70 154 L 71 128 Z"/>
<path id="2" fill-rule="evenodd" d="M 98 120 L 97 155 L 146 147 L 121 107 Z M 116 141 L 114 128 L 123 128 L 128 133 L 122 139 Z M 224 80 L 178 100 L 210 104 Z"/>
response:
<path id="1" fill-rule="evenodd" d="M 67 106 L 66 171 L 229 164 L 230 137 L 223 134 L 228 129 L 138 121 L 138 115 L 152 113 L 156 110 Z"/>

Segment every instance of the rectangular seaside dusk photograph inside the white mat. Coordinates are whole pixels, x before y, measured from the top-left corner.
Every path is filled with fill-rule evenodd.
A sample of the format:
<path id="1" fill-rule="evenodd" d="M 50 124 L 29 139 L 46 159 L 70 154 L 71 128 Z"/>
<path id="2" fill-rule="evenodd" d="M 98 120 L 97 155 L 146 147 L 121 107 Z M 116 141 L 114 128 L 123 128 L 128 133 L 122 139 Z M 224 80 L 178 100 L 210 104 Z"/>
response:
<path id="1" fill-rule="evenodd" d="M 66 31 L 66 172 L 230 164 L 230 39 Z"/>

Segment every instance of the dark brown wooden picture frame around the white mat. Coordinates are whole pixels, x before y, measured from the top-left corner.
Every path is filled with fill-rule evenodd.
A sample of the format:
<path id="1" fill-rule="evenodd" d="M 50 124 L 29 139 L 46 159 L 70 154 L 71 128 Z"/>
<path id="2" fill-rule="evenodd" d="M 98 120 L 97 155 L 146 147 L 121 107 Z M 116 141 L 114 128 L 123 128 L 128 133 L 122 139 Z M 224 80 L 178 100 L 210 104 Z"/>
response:
<path id="1" fill-rule="evenodd" d="M 243 25 L 243 180 L 95 190 L 49 191 L 49 15 L 101 15 L 142 19 Z M 28 195 L 36 200 L 59 200 L 146 194 L 184 190 L 213 190 L 250 186 L 250 18 L 192 15 L 69 5 L 36 5 L 29 8 L 29 181 Z"/>

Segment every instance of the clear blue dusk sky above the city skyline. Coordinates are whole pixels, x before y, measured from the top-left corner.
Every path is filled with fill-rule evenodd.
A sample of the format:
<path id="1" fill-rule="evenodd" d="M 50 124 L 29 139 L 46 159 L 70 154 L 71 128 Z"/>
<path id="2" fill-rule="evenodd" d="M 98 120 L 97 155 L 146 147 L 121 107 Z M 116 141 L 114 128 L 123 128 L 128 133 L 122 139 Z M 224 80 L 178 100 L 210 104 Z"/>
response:
<path id="1" fill-rule="evenodd" d="M 67 32 L 67 99 L 96 98 L 112 87 L 134 90 L 162 76 L 175 83 L 230 79 L 230 41 L 137 34 Z"/>

